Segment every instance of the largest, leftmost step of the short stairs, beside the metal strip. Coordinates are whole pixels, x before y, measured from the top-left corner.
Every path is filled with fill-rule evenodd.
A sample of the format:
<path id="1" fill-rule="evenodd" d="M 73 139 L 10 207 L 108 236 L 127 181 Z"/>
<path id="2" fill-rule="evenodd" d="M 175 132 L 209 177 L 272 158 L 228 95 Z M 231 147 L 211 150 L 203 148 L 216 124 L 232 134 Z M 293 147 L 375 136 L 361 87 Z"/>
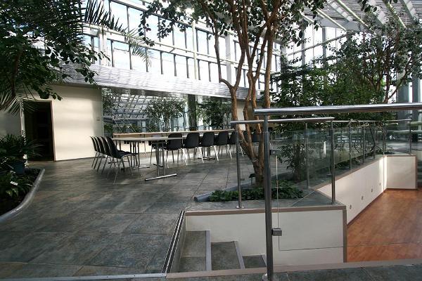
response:
<path id="1" fill-rule="evenodd" d="M 179 272 L 211 270 L 210 231 L 187 231 Z"/>

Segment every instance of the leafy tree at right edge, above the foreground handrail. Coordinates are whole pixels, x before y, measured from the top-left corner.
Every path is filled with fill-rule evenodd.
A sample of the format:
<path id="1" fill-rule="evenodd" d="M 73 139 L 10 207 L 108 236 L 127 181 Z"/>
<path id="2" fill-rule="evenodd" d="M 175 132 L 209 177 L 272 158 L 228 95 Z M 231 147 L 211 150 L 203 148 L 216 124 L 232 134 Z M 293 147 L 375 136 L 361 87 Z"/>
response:
<path id="1" fill-rule="evenodd" d="M 383 25 L 372 15 L 365 21 L 368 28 L 347 37 L 334 58 L 347 64 L 357 83 L 368 85 L 388 103 L 400 86 L 422 78 L 422 27 L 402 27 L 397 16 Z"/>

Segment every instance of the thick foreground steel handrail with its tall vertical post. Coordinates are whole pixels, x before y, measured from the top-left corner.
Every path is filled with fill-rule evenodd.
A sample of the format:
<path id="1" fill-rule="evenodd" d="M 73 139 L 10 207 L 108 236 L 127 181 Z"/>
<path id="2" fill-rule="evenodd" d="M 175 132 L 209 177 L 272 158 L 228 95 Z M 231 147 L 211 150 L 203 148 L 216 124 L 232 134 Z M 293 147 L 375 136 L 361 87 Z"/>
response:
<path id="1" fill-rule="evenodd" d="M 255 116 L 264 116 L 264 194 L 265 194 L 265 240 L 267 244 L 267 280 L 274 280 L 273 261 L 273 228 L 271 210 L 271 167 L 269 163 L 269 115 L 313 115 L 313 114 L 338 114 L 351 112 L 388 112 L 400 110 L 421 110 L 422 103 L 390 103 L 373 105 L 328 105 L 310 107 L 282 107 L 262 108 L 254 110 Z M 237 130 L 236 130 L 237 131 Z M 333 151 L 333 122 L 331 122 L 331 151 Z M 331 155 L 333 157 L 333 155 Z M 334 161 L 331 160 L 331 184 L 335 194 Z"/>

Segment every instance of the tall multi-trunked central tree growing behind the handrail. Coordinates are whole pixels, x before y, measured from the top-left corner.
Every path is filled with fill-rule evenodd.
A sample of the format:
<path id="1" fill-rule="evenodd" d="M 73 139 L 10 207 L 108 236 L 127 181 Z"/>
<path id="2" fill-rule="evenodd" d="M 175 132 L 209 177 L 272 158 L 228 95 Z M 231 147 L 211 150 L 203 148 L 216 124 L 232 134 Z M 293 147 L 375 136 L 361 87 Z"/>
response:
<path id="1" fill-rule="evenodd" d="M 210 27 L 214 37 L 214 48 L 217 57 L 217 68 L 219 72 L 219 82 L 225 84 L 231 95 L 231 117 L 238 120 L 237 97 L 236 92 L 241 81 L 241 67 L 236 72 L 236 81 L 230 83 L 222 77 L 219 53 L 219 37 L 234 32 L 241 49 L 238 65 L 248 67 L 248 95 L 245 98 L 245 107 L 243 108 L 243 119 L 250 120 L 257 117 L 248 115 L 250 110 L 257 107 L 256 84 L 264 59 L 264 91 L 262 107 L 269 107 L 270 98 L 270 70 L 271 57 L 273 55 L 274 41 L 280 44 L 286 44 L 288 41 L 300 41 L 302 29 L 306 23 L 302 19 L 302 13 L 308 8 L 314 15 L 317 8 L 323 7 L 324 1 L 314 0 L 173 0 L 166 6 L 159 0 L 154 0 L 147 11 L 141 15 L 141 28 L 139 33 L 146 38 L 146 32 L 151 30 L 146 23 L 146 18 L 154 13 L 162 17 L 158 23 L 158 37 L 165 37 L 172 32 L 174 28 L 186 29 L 186 25 L 180 23 L 186 18 L 186 11 L 192 11 L 191 17 L 187 19 L 188 23 L 194 20 L 205 20 Z M 153 44 L 153 42 L 151 42 Z M 264 178 L 264 147 L 263 143 L 255 152 L 252 147 L 252 138 L 250 138 L 250 127 L 246 126 L 249 138 L 245 140 L 243 133 L 239 136 L 243 139 L 242 146 L 248 157 L 251 159 L 255 170 L 257 183 L 262 183 Z M 260 133 L 261 127 L 257 126 L 257 132 Z"/>

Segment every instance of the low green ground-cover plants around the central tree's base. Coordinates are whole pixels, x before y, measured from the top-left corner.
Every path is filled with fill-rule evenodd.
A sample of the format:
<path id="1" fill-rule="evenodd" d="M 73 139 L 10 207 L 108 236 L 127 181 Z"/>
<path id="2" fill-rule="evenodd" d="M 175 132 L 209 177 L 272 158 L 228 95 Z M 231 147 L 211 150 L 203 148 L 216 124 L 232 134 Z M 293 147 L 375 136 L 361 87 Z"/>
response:
<path id="1" fill-rule="evenodd" d="M 278 192 L 277 192 L 278 191 Z M 303 192 L 298 188 L 291 186 L 285 188 L 271 188 L 271 197 L 276 199 L 295 199 L 302 198 Z M 238 200 L 238 191 L 215 190 L 210 195 L 212 202 L 225 202 Z M 242 200 L 264 200 L 264 188 L 252 188 L 242 190 Z"/>

